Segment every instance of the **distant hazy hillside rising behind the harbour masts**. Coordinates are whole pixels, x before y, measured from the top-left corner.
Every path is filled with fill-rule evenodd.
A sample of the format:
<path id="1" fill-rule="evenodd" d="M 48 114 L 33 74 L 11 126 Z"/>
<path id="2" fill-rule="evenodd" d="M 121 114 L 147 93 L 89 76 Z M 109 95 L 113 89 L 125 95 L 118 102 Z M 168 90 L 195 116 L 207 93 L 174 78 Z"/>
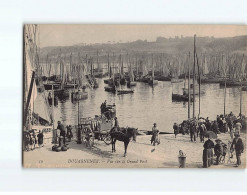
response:
<path id="1" fill-rule="evenodd" d="M 61 50 L 62 54 L 66 56 L 71 52 L 78 55 L 88 54 L 95 56 L 97 50 L 99 55 L 107 55 L 108 53 L 167 53 L 167 54 L 181 54 L 193 52 L 193 37 L 176 37 L 176 38 L 163 38 L 158 37 L 155 42 L 147 42 L 146 40 L 137 40 L 128 43 L 103 43 L 92 45 L 73 45 L 73 46 L 60 46 L 60 47 L 45 47 L 41 48 L 41 56 L 56 58 Z M 215 52 L 240 52 L 246 53 L 247 51 L 247 35 L 228 37 L 228 38 L 214 38 L 214 37 L 197 37 L 196 48 L 198 53 L 215 53 Z"/>

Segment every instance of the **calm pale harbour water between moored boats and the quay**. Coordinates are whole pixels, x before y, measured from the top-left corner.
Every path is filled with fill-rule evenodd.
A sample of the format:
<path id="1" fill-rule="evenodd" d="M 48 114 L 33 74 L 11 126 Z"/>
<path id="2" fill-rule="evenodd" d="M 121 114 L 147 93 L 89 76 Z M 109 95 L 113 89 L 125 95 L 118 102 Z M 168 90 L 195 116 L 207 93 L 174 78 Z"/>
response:
<path id="1" fill-rule="evenodd" d="M 87 100 L 81 100 L 80 117 L 94 117 L 100 114 L 100 105 L 107 100 L 108 103 L 116 104 L 117 117 L 120 126 L 133 126 L 142 130 L 150 130 L 152 124 L 156 122 L 161 131 L 172 132 L 174 122 L 181 122 L 187 119 L 188 103 L 172 102 L 172 93 L 182 94 L 184 83 L 161 82 L 154 88 L 145 83 L 137 83 L 133 94 L 115 95 L 104 91 L 103 79 L 99 79 L 98 89 L 87 89 L 89 96 Z M 187 86 L 187 84 L 186 84 Z M 223 113 L 224 89 L 219 84 L 203 84 L 201 90 L 205 92 L 201 96 L 201 115 L 216 118 L 217 114 Z M 243 101 L 247 97 L 246 92 L 242 92 Z M 35 102 L 35 112 L 41 116 L 44 113 L 42 99 L 38 97 Z M 198 96 L 196 96 L 196 116 L 198 115 Z M 226 91 L 226 112 L 233 111 L 238 114 L 240 111 L 240 92 L 238 88 L 227 88 Z M 242 106 L 242 113 L 246 115 L 246 110 Z M 78 123 L 78 103 L 72 103 L 70 99 L 59 102 L 54 109 L 55 120 L 61 120 L 65 124 Z M 191 105 L 192 116 L 192 105 Z"/>

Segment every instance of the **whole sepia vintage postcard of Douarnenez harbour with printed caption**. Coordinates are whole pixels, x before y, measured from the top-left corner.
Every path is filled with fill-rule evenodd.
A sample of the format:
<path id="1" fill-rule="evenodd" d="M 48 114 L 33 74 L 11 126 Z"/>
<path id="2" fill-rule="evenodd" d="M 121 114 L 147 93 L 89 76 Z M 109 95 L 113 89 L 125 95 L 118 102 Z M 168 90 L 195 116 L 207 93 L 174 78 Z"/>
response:
<path id="1" fill-rule="evenodd" d="M 247 26 L 23 28 L 23 167 L 246 168 Z"/>

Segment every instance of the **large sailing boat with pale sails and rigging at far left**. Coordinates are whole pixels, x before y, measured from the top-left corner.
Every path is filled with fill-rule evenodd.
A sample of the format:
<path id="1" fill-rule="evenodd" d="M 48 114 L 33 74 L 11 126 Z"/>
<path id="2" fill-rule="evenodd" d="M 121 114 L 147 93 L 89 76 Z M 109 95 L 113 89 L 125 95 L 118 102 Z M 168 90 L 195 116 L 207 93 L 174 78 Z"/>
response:
<path id="1" fill-rule="evenodd" d="M 27 28 L 38 30 L 38 26 L 25 25 L 24 26 L 24 117 L 23 117 L 23 143 L 25 139 L 28 139 L 29 133 L 35 133 L 35 131 L 48 129 L 51 130 L 51 121 L 53 120 L 52 114 L 49 112 L 50 119 L 40 117 L 38 113 L 34 112 L 35 99 L 38 97 L 37 87 L 35 83 L 36 68 L 39 67 L 38 61 L 38 47 L 36 45 L 36 33 L 27 31 Z M 37 33 L 38 34 L 38 33 Z M 44 92 L 39 94 L 40 97 Z M 45 99 L 46 100 L 46 99 Z M 47 109 L 48 106 L 46 107 Z M 48 110 L 50 111 L 50 110 Z M 24 145 L 24 150 L 28 150 L 28 147 Z"/>

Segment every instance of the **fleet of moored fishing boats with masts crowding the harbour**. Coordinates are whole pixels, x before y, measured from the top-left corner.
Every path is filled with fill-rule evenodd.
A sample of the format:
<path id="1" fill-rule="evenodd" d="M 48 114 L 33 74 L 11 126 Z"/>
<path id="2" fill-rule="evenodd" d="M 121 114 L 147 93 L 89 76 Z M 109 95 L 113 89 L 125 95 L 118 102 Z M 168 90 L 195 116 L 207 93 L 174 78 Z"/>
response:
<path id="1" fill-rule="evenodd" d="M 38 30 L 37 25 L 27 25 L 26 28 Z M 201 85 L 204 83 L 219 83 L 224 87 L 224 94 L 226 87 L 247 90 L 247 66 L 244 55 L 220 53 L 218 56 L 199 56 L 196 51 L 196 37 L 193 56 L 190 53 L 170 55 L 123 52 L 118 54 L 107 52 L 105 55 L 98 50 L 88 55 L 86 52 L 68 53 L 62 49 L 57 55 L 41 56 L 36 44 L 36 34 L 25 30 L 25 130 L 32 129 L 33 121 L 39 125 L 50 127 L 53 125 L 54 129 L 54 106 L 68 99 L 78 103 L 79 117 L 80 101 L 88 98 L 88 90 L 97 90 L 99 78 L 104 79 L 104 90 L 107 93 L 117 95 L 133 94 L 138 82 L 150 87 L 155 87 L 160 81 L 170 82 L 171 85 L 184 82 L 182 94 L 172 93 L 171 98 L 176 102 L 188 102 L 188 112 L 191 103 L 193 110 L 195 109 L 196 96 L 200 109 L 200 97 L 205 93 Z M 33 109 L 36 92 L 40 93 L 46 102 L 48 110 L 46 118 L 39 116 Z"/>

